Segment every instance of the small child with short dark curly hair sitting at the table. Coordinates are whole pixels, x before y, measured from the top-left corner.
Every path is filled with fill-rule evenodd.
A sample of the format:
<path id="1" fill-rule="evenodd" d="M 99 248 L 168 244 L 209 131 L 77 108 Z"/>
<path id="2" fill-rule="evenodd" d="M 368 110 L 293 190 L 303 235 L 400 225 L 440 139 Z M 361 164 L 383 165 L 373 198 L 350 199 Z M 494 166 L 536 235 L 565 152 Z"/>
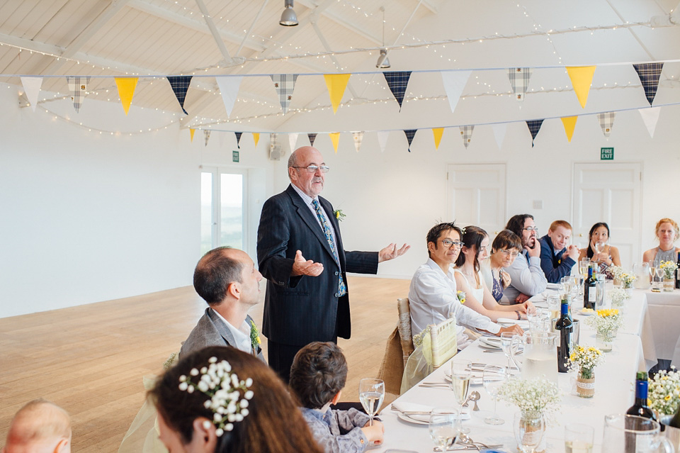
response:
<path id="1" fill-rule="evenodd" d="M 300 349 L 290 368 L 289 386 L 302 404 L 302 417 L 325 453 L 361 453 L 370 442 L 382 443 L 385 427 L 355 408 L 332 410 L 347 379 L 347 362 L 333 342 L 313 342 Z"/>

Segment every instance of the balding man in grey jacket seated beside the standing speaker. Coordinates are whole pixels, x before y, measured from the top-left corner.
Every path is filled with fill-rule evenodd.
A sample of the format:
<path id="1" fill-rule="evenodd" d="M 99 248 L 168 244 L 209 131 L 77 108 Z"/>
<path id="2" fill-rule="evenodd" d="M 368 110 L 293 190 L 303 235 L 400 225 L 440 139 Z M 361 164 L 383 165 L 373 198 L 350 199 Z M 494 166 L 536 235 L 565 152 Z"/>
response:
<path id="1" fill-rule="evenodd" d="M 203 255 L 193 273 L 193 287 L 208 308 L 182 345 L 180 357 L 207 346 L 231 346 L 264 362 L 258 330 L 248 315 L 259 303 L 261 279 L 242 250 L 217 247 Z"/>

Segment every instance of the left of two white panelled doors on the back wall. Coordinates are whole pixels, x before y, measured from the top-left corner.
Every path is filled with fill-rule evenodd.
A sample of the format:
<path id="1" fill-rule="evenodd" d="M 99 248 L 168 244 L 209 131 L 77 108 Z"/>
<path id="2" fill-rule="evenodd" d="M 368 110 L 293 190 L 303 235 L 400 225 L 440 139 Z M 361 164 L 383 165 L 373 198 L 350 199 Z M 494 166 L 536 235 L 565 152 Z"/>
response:
<path id="1" fill-rule="evenodd" d="M 477 225 L 493 240 L 506 223 L 505 164 L 449 164 L 448 219 Z"/>

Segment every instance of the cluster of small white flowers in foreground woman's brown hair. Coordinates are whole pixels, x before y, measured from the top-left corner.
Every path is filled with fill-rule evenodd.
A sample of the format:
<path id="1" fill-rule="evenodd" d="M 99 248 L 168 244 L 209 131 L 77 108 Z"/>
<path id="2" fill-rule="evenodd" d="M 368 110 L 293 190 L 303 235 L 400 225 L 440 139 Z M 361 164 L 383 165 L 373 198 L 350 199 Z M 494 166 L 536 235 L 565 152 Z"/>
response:
<path id="1" fill-rule="evenodd" d="M 212 411 L 212 424 L 217 427 L 215 435 L 220 437 L 225 431 L 234 429 L 234 422 L 242 421 L 249 414 L 248 400 L 253 398 L 254 393 L 248 390 L 248 387 L 253 385 L 253 380 L 248 378 L 239 381 L 239 377 L 232 373 L 232 366 L 226 360 L 217 362 L 217 357 L 210 357 L 208 363 L 208 367 L 203 367 L 200 371 L 196 368 L 189 371 L 191 376 L 200 374 L 196 383 L 191 381 L 191 376 L 179 376 L 179 389 L 186 393 L 198 390 L 210 397 L 205 400 L 203 406 Z M 203 426 L 208 428 L 210 423 L 205 420 Z"/>

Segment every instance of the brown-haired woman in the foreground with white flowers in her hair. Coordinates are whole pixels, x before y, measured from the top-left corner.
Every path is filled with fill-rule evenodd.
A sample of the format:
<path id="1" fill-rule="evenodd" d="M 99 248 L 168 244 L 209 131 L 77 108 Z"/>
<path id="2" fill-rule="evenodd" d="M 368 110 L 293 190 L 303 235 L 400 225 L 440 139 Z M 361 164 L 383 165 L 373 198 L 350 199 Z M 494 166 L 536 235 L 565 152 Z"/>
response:
<path id="1" fill-rule="evenodd" d="M 171 453 L 322 453 L 278 376 L 233 347 L 184 357 L 149 398 Z"/>

